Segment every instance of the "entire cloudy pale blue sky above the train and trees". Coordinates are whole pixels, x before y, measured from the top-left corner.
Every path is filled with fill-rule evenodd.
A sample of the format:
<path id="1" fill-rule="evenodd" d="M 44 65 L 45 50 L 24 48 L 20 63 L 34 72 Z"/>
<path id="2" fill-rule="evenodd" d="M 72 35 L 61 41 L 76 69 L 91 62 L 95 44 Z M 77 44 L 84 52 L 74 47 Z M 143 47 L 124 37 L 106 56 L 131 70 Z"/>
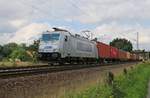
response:
<path id="1" fill-rule="evenodd" d="M 32 43 L 43 31 L 60 27 L 72 33 L 89 30 L 109 43 L 130 40 L 150 50 L 150 0 L 0 0 L 0 44 Z"/>

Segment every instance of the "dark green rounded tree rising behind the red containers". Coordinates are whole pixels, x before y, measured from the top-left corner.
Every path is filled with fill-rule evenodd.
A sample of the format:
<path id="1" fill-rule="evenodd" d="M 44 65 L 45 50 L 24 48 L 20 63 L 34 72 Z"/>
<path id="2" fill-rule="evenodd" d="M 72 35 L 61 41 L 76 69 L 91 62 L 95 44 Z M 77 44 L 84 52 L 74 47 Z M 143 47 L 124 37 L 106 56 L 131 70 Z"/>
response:
<path id="1" fill-rule="evenodd" d="M 127 39 L 122 38 L 116 38 L 112 42 L 110 42 L 110 45 L 113 47 L 116 47 L 118 49 L 129 51 L 131 52 L 133 49 L 132 43 Z"/>

